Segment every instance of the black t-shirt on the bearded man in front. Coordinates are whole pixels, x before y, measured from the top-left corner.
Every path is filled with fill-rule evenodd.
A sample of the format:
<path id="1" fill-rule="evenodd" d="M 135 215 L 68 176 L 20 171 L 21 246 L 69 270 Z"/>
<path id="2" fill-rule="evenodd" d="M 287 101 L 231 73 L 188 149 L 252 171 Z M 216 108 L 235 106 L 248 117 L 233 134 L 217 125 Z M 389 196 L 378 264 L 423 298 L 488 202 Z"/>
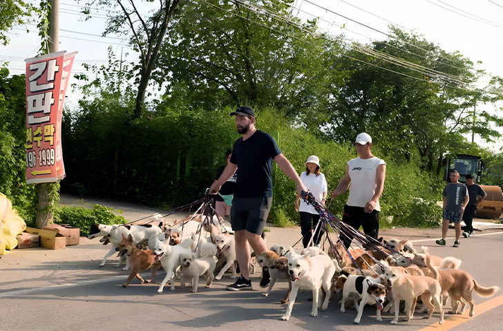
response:
<path id="1" fill-rule="evenodd" d="M 234 196 L 238 198 L 272 197 L 272 159 L 281 151 L 274 139 L 263 131 L 234 143 L 231 162 L 238 164 Z"/>

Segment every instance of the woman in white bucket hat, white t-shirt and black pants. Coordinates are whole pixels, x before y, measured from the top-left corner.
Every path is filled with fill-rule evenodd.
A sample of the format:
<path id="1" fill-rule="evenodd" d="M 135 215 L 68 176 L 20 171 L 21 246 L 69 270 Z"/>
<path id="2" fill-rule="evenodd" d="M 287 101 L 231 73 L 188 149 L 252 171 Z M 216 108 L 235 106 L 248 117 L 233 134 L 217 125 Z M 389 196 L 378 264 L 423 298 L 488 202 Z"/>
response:
<path id="1" fill-rule="evenodd" d="M 301 180 L 305 187 L 311 191 L 314 198 L 325 205 L 327 180 L 325 180 L 325 175 L 320 172 L 320 159 L 316 155 L 311 155 L 307 158 L 305 172 L 301 173 Z M 323 236 L 321 225 L 316 229 L 316 233 L 314 233 L 314 229 L 320 220 L 320 214 L 318 214 L 312 205 L 308 205 L 304 200 L 301 201 L 301 205 L 299 206 L 299 200 L 301 200 L 301 196 L 297 195 L 295 199 L 295 211 L 301 214 L 301 234 L 303 236 L 302 243 L 304 248 L 308 247 L 310 243 L 312 245 L 319 245 Z"/>

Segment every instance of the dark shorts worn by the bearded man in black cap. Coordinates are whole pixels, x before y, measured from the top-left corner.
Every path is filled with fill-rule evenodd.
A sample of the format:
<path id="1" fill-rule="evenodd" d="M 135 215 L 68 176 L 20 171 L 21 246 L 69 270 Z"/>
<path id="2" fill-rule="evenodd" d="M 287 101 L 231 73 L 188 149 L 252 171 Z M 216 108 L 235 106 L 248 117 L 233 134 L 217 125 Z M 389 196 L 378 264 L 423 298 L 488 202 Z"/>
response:
<path id="1" fill-rule="evenodd" d="M 234 231 L 247 230 L 261 235 L 271 210 L 272 198 L 237 198 L 232 200 L 231 226 Z"/>

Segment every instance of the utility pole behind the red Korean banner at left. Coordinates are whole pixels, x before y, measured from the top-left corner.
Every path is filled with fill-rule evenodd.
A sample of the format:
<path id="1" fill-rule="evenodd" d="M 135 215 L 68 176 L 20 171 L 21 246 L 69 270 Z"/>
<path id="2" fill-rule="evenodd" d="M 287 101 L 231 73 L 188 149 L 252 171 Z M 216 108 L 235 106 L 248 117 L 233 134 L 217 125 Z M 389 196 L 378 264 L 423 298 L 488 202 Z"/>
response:
<path id="1" fill-rule="evenodd" d="M 59 0 L 49 0 L 49 53 L 59 50 Z M 54 191 L 57 190 L 55 183 L 37 184 L 39 189 L 39 209 L 37 211 L 37 228 L 41 229 L 53 222 L 54 213 L 51 209 L 55 203 Z"/>

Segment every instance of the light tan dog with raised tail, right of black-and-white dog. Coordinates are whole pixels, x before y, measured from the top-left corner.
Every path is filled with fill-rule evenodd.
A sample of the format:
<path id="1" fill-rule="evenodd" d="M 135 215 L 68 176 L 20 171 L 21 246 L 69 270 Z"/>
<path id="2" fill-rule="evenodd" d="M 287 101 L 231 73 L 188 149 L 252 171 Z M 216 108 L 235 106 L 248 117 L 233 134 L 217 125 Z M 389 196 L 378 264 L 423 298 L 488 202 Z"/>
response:
<path id="1" fill-rule="evenodd" d="M 426 256 L 429 259 L 429 256 Z M 438 281 L 439 274 L 434 269 L 433 278 L 426 276 L 409 276 L 402 274 L 397 267 L 390 267 L 384 273 L 388 285 L 392 287 L 393 305 L 395 306 L 395 318 L 391 321 L 392 324 L 398 323 L 399 304 L 400 300 L 406 303 L 406 321 L 412 319 L 416 308 L 417 296 L 421 296 L 423 303 L 428 306 L 429 314 L 425 318 L 430 318 L 433 315 L 435 306 L 431 304 L 431 298 L 437 308 L 440 310 L 440 321 L 444 323 L 444 310 L 440 303 L 440 293 L 442 288 Z"/>

